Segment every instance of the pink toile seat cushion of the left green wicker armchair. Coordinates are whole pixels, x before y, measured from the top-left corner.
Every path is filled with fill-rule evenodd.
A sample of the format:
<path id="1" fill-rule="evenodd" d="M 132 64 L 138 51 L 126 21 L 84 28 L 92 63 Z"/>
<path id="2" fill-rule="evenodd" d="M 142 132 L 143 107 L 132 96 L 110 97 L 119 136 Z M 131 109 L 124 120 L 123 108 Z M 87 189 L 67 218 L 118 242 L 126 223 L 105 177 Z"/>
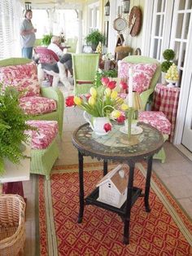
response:
<path id="1" fill-rule="evenodd" d="M 43 113 L 52 113 L 57 109 L 57 103 L 54 99 L 33 96 L 20 98 L 20 108 L 28 115 L 37 116 Z"/>

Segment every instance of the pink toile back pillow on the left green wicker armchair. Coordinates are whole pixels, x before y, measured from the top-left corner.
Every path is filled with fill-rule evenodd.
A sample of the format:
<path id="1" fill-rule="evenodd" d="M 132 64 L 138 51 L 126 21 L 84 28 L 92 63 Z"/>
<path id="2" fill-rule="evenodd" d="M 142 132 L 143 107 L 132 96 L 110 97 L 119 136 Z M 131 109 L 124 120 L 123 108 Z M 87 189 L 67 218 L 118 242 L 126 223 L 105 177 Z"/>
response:
<path id="1" fill-rule="evenodd" d="M 37 67 L 34 63 L 0 68 L 0 81 L 5 86 L 15 86 L 18 91 L 22 91 L 22 97 L 40 95 Z"/>

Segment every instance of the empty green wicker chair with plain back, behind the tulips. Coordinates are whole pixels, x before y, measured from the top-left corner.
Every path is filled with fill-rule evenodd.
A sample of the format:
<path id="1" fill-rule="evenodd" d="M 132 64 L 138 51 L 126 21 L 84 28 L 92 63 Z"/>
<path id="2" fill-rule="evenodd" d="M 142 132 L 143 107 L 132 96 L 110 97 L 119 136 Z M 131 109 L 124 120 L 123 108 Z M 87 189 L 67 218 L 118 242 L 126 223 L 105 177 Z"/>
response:
<path id="1" fill-rule="evenodd" d="M 93 86 L 98 70 L 98 60 L 98 54 L 72 54 L 75 95 L 86 94 L 89 92 L 89 88 Z"/>

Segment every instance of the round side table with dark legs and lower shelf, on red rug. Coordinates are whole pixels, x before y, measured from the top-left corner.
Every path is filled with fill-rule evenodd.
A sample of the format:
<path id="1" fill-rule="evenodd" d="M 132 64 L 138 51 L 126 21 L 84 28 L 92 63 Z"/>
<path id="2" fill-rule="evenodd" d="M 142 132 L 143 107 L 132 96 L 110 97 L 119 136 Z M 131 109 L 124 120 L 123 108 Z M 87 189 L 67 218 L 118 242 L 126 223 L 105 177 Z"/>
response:
<path id="1" fill-rule="evenodd" d="M 164 137 L 159 130 L 144 123 L 138 123 L 137 125 L 142 128 L 142 133 L 131 135 L 130 139 L 128 139 L 128 135 L 120 132 L 120 126 L 113 126 L 112 131 L 108 135 L 95 135 L 88 123 L 77 128 L 72 135 L 72 143 L 77 148 L 79 157 L 80 210 L 78 223 L 82 222 L 85 205 L 97 205 L 103 209 L 120 214 L 124 221 L 124 244 L 129 244 L 131 208 L 139 196 L 144 197 L 146 212 L 150 212 L 149 193 L 153 155 L 164 144 Z M 84 198 L 83 160 L 86 156 L 103 160 L 103 175 L 107 174 L 108 161 L 128 164 L 127 200 L 120 208 L 98 201 L 98 188 L 94 189 L 89 196 Z M 141 188 L 133 187 L 135 163 L 143 159 L 147 161 L 144 193 L 142 193 Z"/>

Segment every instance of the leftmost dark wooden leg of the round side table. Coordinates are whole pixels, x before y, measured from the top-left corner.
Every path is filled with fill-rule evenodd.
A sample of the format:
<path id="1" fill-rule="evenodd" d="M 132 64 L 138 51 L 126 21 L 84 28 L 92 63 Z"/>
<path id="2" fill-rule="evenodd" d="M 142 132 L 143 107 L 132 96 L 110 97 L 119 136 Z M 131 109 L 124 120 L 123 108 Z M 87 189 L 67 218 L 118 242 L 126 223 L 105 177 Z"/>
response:
<path id="1" fill-rule="evenodd" d="M 81 155 L 81 152 L 78 152 L 78 157 L 79 157 L 79 183 L 80 183 L 80 192 L 79 192 L 80 210 L 79 210 L 79 216 L 78 216 L 77 222 L 81 223 L 83 219 L 83 212 L 84 212 L 83 155 Z"/>

